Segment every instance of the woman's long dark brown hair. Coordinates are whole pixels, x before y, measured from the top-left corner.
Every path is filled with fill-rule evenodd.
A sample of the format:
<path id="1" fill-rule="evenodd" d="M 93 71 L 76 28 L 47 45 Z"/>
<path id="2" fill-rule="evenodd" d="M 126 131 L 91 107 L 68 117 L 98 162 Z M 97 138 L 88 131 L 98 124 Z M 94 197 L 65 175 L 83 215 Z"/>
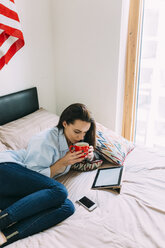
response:
<path id="1" fill-rule="evenodd" d="M 90 129 L 84 137 L 84 142 L 89 143 L 93 147 L 96 146 L 96 124 L 95 120 L 91 116 L 90 111 L 82 103 L 74 103 L 68 106 L 61 114 L 59 122 L 57 124 L 58 129 L 64 129 L 63 122 L 74 124 L 75 120 L 81 120 L 91 123 Z"/>

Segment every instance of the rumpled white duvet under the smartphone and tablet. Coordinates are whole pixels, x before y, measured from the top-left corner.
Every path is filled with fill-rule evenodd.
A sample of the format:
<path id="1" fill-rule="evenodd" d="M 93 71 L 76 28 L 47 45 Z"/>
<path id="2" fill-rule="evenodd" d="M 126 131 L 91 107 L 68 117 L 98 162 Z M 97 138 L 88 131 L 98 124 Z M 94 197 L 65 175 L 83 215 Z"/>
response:
<path id="1" fill-rule="evenodd" d="M 9 248 L 164 248 L 165 154 L 136 147 L 126 158 L 120 194 L 92 190 L 96 171 L 70 171 L 59 179 L 75 204 L 74 215 Z M 88 212 L 77 199 L 98 207 Z"/>

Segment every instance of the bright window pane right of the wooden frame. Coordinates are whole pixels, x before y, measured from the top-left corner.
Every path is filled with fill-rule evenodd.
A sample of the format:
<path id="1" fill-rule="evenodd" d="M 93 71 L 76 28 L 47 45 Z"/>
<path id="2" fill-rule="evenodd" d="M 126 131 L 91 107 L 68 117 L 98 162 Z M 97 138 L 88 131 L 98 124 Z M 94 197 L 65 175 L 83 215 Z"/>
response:
<path id="1" fill-rule="evenodd" d="M 145 0 L 135 142 L 165 149 L 165 1 Z"/>

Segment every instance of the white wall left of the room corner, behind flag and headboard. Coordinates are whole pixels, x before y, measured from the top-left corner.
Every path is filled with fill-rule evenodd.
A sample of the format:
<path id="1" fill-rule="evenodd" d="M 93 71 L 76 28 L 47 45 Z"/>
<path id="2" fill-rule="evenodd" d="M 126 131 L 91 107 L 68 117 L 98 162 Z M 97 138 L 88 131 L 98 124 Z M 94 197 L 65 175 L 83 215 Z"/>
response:
<path id="1" fill-rule="evenodd" d="M 15 0 L 25 46 L 0 71 L 0 95 L 37 86 L 40 106 L 55 112 L 51 0 Z"/>

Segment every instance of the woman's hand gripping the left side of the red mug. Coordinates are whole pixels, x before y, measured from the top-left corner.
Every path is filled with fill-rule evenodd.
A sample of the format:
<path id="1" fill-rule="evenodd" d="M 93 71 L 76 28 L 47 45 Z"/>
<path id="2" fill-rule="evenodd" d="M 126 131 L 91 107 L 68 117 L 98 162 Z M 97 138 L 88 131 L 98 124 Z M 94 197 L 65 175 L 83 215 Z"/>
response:
<path id="1" fill-rule="evenodd" d="M 85 156 L 85 158 L 81 158 L 82 155 L 84 155 L 84 153 L 82 153 L 82 151 L 78 151 L 78 152 L 70 152 L 69 151 L 60 160 L 64 166 L 72 165 L 72 164 L 80 163 L 85 158 L 87 158 L 87 156 Z"/>

